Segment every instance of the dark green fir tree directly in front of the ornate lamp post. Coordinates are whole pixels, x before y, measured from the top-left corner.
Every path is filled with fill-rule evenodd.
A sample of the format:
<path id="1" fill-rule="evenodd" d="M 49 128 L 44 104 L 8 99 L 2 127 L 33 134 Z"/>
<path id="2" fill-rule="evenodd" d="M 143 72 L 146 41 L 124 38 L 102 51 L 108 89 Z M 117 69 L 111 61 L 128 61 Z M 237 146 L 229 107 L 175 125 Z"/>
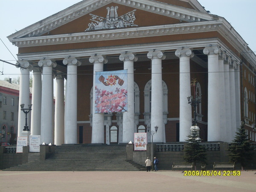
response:
<path id="1" fill-rule="evenodd" d="M 192 129 L 191 134 L 187 136 L 189 139 L 186 140 L 189 143 L 185 145 L 184 148 L 184 160 L 186 163 L 194 163 L 196 168 L 196 163 L 206 163 L 206 151 L 207 149 L 204 145 L 200 145 L 201 140 L 198 137 L 198 130 Z"/>

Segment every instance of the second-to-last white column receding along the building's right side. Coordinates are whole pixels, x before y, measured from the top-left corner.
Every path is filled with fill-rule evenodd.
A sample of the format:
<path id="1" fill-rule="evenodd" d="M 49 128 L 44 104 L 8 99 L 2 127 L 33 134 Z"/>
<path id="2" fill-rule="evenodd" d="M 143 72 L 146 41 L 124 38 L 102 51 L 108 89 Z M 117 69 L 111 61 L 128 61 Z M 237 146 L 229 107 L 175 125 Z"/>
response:
<path id="1" fill-rule="evenodd" d="M 236 135 L 236 88 L 235 88 L 235 61 L 229 58 L 230 72 L 230 107 L 231 107 L 231 130 L 232 140 Z"/>

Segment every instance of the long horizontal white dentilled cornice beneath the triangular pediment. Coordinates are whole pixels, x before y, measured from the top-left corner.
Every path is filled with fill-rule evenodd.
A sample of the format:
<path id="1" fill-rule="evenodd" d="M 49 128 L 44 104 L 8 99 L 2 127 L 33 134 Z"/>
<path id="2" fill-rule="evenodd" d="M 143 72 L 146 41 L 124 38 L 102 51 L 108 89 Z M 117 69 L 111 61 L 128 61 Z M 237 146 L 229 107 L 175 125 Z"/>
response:
<path id="1" fill-rule="evenodd" d="M 178 23 L 128 29 L 102 30 L 73 34 L 18 38 L 15 39 L 12 43 L 17 47 L 71 44 L 102 40 L 117 40 L 127 38 L 154 37 L 161 35 L 215 31 L 220 26 L 221 23 L 219 23 L 218 21 L 202 21 L 195 23 Z"/>

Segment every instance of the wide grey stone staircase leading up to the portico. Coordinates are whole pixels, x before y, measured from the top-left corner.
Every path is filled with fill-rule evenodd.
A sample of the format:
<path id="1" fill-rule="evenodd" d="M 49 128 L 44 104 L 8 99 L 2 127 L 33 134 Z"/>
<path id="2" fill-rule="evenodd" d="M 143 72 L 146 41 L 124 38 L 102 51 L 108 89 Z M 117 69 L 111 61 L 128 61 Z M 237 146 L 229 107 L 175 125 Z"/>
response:
<path id="1" fill-rule="evenodd" d="M 35 160 L 3 171 L 145 171 L 126 160 L 126 145 L 61 145 L 46 160 Z"/>

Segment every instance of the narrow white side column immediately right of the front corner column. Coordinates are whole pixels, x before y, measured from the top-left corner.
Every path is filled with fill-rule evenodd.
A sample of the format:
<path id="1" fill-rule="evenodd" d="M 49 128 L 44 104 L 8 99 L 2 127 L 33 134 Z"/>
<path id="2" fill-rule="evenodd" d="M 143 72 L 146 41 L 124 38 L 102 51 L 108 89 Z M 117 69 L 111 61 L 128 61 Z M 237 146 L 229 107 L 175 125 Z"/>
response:
<path id="1" fill-rule="evenodd" d="M 223 52 L 219 53 L 218 67 L 219 67 L 219 105 L 220 105 L 220 133 L 221 141 L 227 140 L 226 135 L 226 98 L 225 98 L 225 80 L 224 80 L 224 58 L 226 55 Z"/>

